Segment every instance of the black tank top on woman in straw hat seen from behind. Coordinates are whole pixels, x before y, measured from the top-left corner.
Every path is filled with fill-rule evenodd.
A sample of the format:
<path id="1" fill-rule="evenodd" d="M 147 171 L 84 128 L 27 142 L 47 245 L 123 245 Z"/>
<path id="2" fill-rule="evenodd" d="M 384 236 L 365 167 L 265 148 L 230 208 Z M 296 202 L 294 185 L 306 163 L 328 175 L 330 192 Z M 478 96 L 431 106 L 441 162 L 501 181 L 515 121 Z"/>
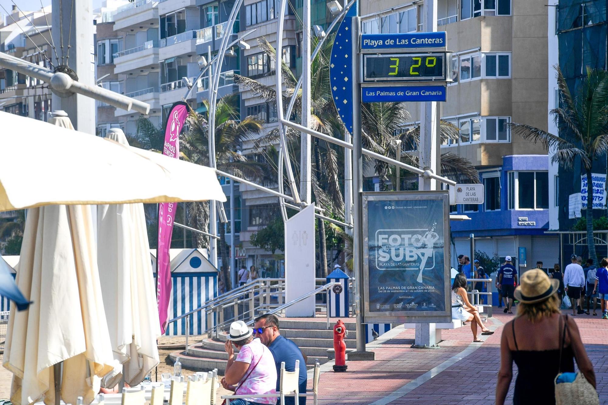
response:
<path id="1" fill-rule="evenodd" d="M 567 316 L 566 316 L 567 317 Z M 559 324 L 561 325 L 561 317 Z M 515 320 L 513 325 L 513 342 L 515 350 L 511 350 L 511 356 L 517 364 L 517 378 L 515 380 L 515 391 L 513 393 L 513 404 L 515 405 L 554 405 L 555 388 L 554 379 L 558 373 L 574 372 L 574 353 L 572 345 L 564 347 L 566 322 L 561 333 L 561 364 L 559 361 L 559 349 L 551 350 L 519 350 L 515 338 Z"/>

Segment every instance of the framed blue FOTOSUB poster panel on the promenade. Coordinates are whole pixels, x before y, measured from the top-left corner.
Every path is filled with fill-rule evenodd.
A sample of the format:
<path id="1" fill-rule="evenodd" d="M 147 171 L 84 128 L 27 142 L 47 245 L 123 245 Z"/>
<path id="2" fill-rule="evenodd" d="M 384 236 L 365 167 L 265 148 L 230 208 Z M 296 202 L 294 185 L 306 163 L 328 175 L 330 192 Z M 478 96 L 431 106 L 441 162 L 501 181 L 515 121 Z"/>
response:
<path id="1" fill-rule="evenodd" d="M 451 322 L 449 198 L 364 193 L 365 322 Z"/>

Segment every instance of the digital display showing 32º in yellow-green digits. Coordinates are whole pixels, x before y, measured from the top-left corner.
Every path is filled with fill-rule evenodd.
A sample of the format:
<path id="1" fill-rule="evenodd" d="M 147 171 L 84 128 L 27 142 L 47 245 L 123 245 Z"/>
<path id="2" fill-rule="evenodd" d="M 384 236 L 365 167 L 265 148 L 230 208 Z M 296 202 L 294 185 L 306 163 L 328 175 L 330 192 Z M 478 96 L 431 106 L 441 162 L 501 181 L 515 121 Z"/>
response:
<path id="1" fill-rule="evenodd" d="M 446 52 L 364 55 L 363 81 L 446 81 L 446 60 Z"/>

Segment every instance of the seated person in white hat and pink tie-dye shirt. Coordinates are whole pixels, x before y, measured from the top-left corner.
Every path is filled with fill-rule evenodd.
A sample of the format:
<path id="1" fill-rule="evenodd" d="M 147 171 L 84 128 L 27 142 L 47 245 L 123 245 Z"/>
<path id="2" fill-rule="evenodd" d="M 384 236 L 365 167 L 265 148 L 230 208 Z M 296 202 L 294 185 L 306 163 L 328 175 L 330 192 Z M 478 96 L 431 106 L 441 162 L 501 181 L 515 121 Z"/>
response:
<path id="1" fill-rule="evenodd" d="M 225 389 L 234 391 L 234 395 L 274 394 L 277 386 L 274 358 L 260 339 L 252 337 L 252 333 L 253 331 L 242 320 L 230 324 L 228 341 L 224 344 L 228 353 L 226 376 L 221 379 L 221 384 Z M 239 350 L 236 358 L 232 345 Z M 234 405 L 274 405 L 276 402 L 276 397 L 255 398 L 255 396 L 230 401 Z"/>

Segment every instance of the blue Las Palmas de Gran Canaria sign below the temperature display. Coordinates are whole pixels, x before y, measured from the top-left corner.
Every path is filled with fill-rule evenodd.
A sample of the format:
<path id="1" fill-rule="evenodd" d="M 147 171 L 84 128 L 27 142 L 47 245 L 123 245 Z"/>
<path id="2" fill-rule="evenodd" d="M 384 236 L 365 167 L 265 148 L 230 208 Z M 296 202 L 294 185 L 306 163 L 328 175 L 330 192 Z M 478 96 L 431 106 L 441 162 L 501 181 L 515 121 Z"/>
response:
<path id="1" fill-rule="evenodd" d="M 364 103 L 384 102 L 444 102 L 446 86 L 371 86 L 361 88 Z"/>

